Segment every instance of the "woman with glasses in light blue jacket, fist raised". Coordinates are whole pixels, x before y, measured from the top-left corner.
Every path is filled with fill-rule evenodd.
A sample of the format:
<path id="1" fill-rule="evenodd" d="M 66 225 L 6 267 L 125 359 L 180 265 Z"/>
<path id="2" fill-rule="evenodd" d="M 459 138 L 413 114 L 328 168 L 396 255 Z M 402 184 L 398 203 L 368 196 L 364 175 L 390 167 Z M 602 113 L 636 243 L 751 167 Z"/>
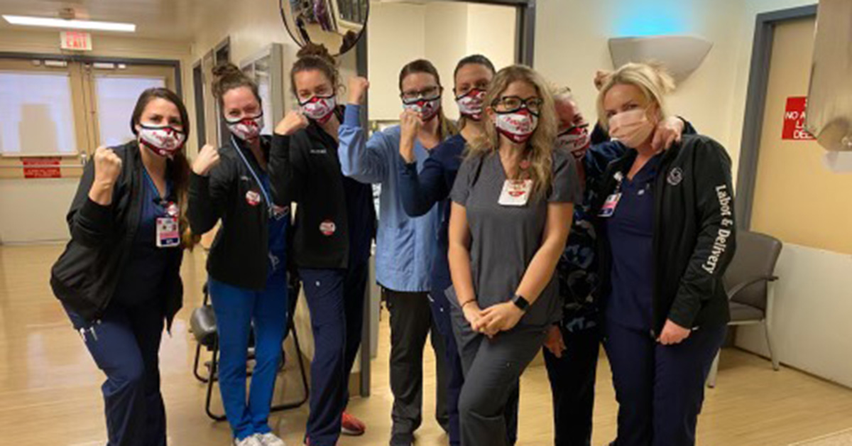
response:
<path id="1" fill-rule="evenodd" d="M 349 103 L 340 126 L 343 174 L 382 185 L 376 250 L 376 278 L 390 312 L 390 386 L 394 392 L 392 445 L 408 445 L 422 421 L 423 345 L 431 330 L 437 358 L 436 418 L 448 430 L 444 341 L 430 316 L 430 268 L 435 255 L 439 210 L 409 217 L 400 198 L 400 151 L 413 153 L 417 167 L 455 130 L 440 107 L 443 88 L 429 61 L 412 61 L 400 72 L 403 112 L 400 125 L 378 131 L 366 141 L 359 121 L 360 102 L 369 84 L 349 82 Z"/>

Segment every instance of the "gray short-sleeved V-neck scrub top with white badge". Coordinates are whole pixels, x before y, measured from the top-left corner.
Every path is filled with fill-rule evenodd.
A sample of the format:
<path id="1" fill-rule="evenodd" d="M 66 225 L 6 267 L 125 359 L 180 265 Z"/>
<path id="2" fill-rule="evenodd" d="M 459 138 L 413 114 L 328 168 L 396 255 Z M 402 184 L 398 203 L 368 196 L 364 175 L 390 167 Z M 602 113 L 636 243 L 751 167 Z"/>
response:
<path id="1" fill-rule="evenodd" d="M 476 299 L 483 309 L 515 296 L 527 266 L 541 246 L 548 203 L 582 202 L 577 167 L 566 153 L 554 153 L 550 190 L 532 194 L 525 206 L 498 204 L 505 180 L 498 153 L 469 157 L 459 168 L 450 194 L 467 211 L 470 269 Z M 544 326 L 559 321 L 559 299 L 554 274 L 520 323 Z"/>

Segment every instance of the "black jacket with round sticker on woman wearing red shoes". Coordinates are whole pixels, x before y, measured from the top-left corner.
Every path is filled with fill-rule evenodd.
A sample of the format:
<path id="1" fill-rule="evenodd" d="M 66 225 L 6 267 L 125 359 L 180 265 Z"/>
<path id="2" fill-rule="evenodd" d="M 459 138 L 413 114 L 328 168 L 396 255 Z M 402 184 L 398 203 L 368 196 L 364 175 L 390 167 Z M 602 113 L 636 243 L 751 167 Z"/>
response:
<path id="1" fill-rule="evenodd" d="M 338 117 L 343 108 L 338 108 Z M 296 202 L 291 257 L 300 268 L 347 268 L 350 258 L 349 222 L 337 142 L 313 120 L 292 136 L 274 135 L 269 174 L 273 200 L 279 206 Z M 348 182 L 364 197 L 360 203 L 375 232 L 376 210 L 371 186 Z M 333 223 L 333 230 L 328 223 Z M 326 229 L 325 232 L 322 229 Z M 329 234 L 331 232 L 331 234 Z M 369 243 L 368 241 L 366 243 Z"/>

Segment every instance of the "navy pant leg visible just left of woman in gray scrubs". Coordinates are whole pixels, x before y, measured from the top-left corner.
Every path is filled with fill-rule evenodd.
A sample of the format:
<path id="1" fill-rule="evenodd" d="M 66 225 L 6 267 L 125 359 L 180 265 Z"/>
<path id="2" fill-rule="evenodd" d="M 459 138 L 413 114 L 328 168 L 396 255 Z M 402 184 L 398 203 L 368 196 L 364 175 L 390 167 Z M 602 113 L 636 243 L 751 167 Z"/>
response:
<path id="1" fill-rule="evenodd" d="M 461 431 L 458 427 L 458 396 L 462 393 L 464 371 L 462 357 L 458 355 L 455 333 L 452 332 L 451 306 L 443 290 L 429 294 L 429 309 L 432 310 L 432 326 L 438 329 L 444 341 L 446 355 L 446 414 L 449 419 L 447 433 L 450 446 L 462 443 Z"/>

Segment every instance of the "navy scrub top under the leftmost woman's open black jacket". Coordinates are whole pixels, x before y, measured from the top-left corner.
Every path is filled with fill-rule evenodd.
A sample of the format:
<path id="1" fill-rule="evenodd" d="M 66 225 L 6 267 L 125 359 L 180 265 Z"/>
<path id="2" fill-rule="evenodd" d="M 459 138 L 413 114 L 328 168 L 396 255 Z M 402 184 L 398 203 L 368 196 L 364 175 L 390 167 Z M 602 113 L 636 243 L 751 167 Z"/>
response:
<path id="1" fill-rule="evenodd" d="M 166 217 L 168 201 L 160 197 L 157 187 L 144 167 L 142 177 L 144 179 L 142 180 L 142 211 L 139 227 L 130 246 L 129 260 L 118 279 L 118 287 L 115 290 L 116 301 L 128 306 L 143 304 L 162 294 L 165 269 L 169 264 L 169 250 L 180 249 L 157 247 L 157 218 Z M 170 197 L 171 188 L 172 184 L 167 179 L 166 197 Z"/>

